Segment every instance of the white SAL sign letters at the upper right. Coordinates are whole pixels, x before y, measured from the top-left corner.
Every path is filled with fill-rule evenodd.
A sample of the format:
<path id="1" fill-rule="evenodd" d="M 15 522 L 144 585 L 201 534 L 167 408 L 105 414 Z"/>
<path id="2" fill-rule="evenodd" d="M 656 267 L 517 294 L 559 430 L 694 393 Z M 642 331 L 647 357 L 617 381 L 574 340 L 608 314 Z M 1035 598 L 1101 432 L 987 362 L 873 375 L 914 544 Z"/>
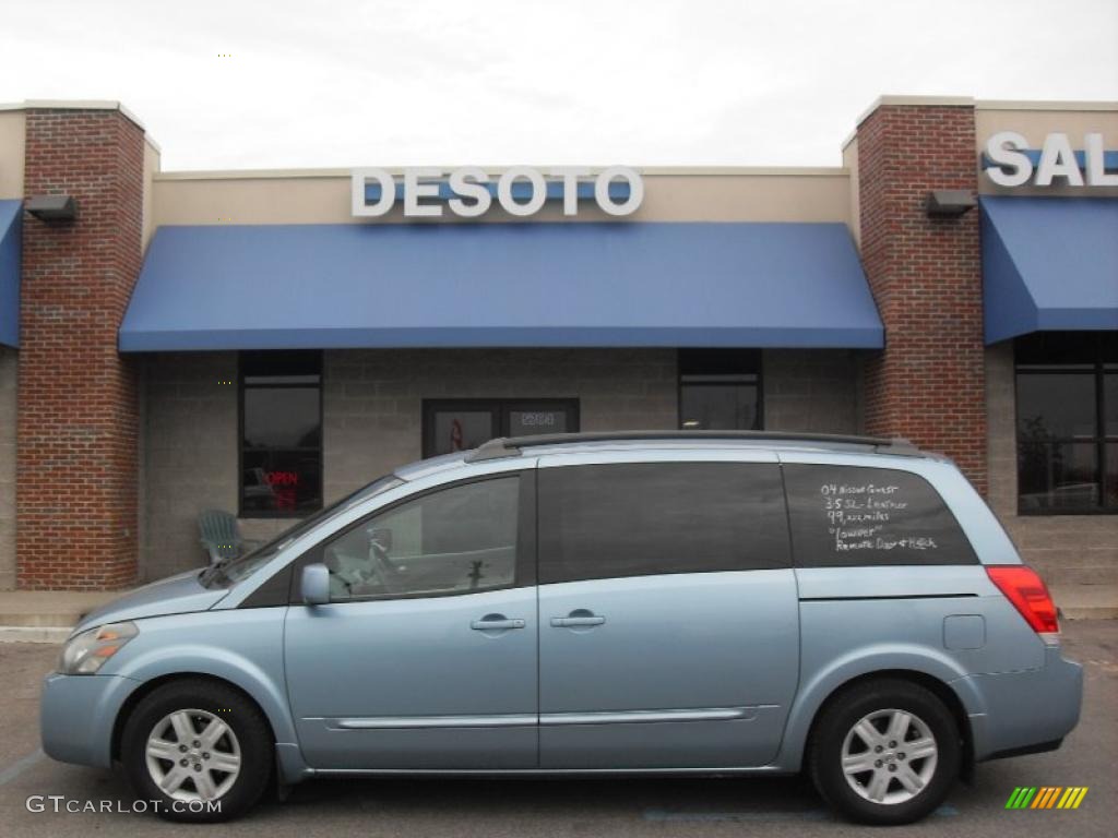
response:
<path id="1" fill-rule="evenodd" d="M 999 187 L 1050 187 L 1058 178 L 1069 187 L 1118 187 L 1118 172 L 1107 171 L 1102 134 L 1084 135 L 1081 152 L 1067 134 L 1049 134 L 1038 154 L 1021 134 L 1003 131 L 986 141 L 985 151 L 986 174 Z"/>

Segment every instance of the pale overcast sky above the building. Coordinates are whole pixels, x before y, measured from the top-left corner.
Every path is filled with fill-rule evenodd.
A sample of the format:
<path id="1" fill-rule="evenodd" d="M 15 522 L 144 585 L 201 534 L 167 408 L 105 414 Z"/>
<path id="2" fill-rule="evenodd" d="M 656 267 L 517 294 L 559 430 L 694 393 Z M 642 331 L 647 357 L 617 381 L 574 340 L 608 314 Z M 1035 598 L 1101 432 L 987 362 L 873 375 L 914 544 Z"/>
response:
<path id="1" fill-rule="evenodd" d="M 880 94 L 1118 99 L 1116 0 L 3 0 L 0 21 L 0 102 L 120 99 L 164 170 L 836 165 Z"/>

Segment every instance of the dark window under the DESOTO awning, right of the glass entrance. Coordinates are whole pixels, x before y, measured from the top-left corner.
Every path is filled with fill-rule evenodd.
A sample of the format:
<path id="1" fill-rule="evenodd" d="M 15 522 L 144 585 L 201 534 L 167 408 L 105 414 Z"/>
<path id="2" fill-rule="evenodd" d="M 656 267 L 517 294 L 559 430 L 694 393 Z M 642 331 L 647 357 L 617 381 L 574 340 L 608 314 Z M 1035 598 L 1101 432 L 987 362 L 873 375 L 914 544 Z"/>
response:
<path id="1" fill-rule="evenodd" d="M 760 430 L 758 350 L 680 350 L 683 430 Z"/>

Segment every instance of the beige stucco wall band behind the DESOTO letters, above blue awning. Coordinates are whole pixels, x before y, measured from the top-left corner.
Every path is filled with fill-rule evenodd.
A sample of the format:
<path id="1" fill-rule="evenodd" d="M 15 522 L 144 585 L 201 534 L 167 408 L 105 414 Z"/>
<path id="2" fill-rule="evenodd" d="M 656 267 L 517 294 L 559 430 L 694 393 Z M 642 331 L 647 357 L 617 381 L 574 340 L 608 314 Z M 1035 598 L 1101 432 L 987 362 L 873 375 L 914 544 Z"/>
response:
<path id="1" fill-rule="evenodd" d="M 629 221 L 839 221 L 850 220 L 849 177 L 844 169 L 808 170 L 650 170 L 645 196 Z M 348 172 L 303 172 L 252 177 L 250 173 L 195 175 L 162 173 L 154 178 L 157 225 L 220 223 L 399 223 L 401 202 L 379 219 L 350 213 Z M 608 221 L 594 201 L 581 201 L 578 216 L 565 219 L 558 202 L 522 219 L 494 201 L 482 219 L 445 213 L 423 222 Z"/>

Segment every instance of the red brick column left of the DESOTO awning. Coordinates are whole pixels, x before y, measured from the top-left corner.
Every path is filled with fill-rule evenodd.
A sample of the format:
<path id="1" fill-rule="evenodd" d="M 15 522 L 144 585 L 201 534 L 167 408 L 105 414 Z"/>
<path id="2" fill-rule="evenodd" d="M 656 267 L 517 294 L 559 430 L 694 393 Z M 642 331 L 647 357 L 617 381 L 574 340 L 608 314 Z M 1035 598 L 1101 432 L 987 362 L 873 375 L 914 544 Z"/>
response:
<path id="1" fill-rule="evenodd" d="M 23 223 L 17 584 L 136 579 L 136 372 L 116 333 L 140 270 L 143 130 L 119 109 L 27 112 L 25 191 L 77 220 Z"/>

